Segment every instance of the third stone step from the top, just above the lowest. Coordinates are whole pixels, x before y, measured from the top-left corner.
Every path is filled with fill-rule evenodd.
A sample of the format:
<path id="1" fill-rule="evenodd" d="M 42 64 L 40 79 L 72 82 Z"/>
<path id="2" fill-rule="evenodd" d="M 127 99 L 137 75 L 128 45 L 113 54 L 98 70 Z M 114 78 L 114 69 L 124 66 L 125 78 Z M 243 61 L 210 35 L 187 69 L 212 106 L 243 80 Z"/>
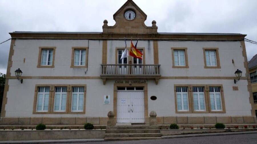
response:
<path id="1" fill-rule="evenodd" d="M 160 133 L 106 133 L 105 137 L 161 137 Z"/>

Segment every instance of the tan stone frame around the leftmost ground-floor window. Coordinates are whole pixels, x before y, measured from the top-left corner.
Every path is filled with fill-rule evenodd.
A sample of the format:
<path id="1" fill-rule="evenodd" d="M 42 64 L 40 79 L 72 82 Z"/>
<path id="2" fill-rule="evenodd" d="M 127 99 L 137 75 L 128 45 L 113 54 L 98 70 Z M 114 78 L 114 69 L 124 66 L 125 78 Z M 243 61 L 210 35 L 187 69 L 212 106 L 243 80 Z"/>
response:
<path id="1" fill-rule="evenodd" d="M 39 87 L 49 87 L 49 103 L 47 111 L 37 111 L 37 100 L 38 100 L 38 88 Z M 34 104 L 33 104 L 33 114 L 50 114 L 51 111 L 51 100 L 52 100 L 52 85 L 36 85 L 35 86 L 35 94 L 34 94 Z"/>

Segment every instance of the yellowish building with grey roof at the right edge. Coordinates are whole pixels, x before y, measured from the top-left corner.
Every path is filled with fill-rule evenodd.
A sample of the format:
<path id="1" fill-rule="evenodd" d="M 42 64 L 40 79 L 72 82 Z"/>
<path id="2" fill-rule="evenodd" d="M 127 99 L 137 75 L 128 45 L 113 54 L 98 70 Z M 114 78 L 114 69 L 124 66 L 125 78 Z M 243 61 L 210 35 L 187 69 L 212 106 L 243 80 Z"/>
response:
<path id="1" fill-rule="evenodd" d="M 250 71 L 250 79 L 252 83 L 252 95 L 254 99 L 254 109 L 257 117 L 257 54 L 252 57 L 248 62 L 248 67 Z"/>

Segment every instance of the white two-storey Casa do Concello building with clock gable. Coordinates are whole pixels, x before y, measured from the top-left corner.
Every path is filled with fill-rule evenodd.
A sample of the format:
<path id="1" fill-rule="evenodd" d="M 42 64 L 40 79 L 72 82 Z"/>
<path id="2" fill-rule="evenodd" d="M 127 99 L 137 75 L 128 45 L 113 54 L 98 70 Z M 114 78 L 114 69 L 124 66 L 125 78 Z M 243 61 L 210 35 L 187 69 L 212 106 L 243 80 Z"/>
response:
<path id="1" fill-rule="evenodd" d="M 246 35 L 159 33 L 146 17 L 128 0 L 103 32 L 11 32 L 2 124 L 107 124 L 109 111 L 117 123 L 149 124 L 151 111 L 158 124 L 257 123 Z M 120 59 L 124 37 L 142 60 Z"/>

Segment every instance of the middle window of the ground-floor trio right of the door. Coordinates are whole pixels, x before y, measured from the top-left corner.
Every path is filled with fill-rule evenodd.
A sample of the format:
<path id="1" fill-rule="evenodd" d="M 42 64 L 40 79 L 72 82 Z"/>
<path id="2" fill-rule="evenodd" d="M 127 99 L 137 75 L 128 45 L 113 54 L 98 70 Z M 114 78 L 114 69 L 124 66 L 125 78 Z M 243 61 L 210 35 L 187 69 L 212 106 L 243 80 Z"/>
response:
<path id="1" fill-rule="evenodd" d="M 204 87 L 193 87 L 194 111 L 205 111 Z"/>

